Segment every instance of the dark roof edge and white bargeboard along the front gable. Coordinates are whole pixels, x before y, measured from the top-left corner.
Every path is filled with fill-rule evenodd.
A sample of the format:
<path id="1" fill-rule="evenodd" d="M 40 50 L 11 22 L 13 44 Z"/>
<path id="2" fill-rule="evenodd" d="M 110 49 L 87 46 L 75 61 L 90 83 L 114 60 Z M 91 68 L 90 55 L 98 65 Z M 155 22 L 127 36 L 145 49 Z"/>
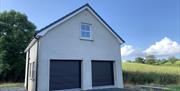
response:
<path id="1" fill-rule="evenodd" d="M 74 17 L 75 15 L 79 14 L 80 12 L 82 12 L 83 10 L 88 10 L 90 13 L 92 13 L 92 15 L 94 15 L 96 17 L 96 19 L 98 21 L 100 21 L 100 23 L 102 25 L 104 25 L 109 31 L 110 33 L 112 33 L 113 36 L 115 36 L 115 38 L 122 44 L 125 41 L 91 8 L 91 6 L 89 4 L 85 4 L 82 7 L 76 9 L 75 11 L 69 13 L 68 15 L 62 17 L 61 19 L 51 23 L 50 25 L 46 26 L 45 28 L 41 29 L 40 31 L 37 31 L 36 33 L 36 37 L 39 36 L 44 36 L 48 31 L 50 31 L 52 28 L 58 26 L 59 24 L 69 20 L 70 18 Z"/>

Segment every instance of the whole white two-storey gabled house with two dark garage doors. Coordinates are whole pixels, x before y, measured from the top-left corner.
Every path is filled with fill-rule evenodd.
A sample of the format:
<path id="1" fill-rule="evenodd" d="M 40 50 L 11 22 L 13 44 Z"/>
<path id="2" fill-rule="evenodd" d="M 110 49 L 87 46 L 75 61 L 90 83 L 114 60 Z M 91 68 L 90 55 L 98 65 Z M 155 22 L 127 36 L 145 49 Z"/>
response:
<path id="1" fill-rule="evenodd" d="M 37 31 L 25 49 L 28 91 L 123 88 L 124 40 L 85 4 Z"/>

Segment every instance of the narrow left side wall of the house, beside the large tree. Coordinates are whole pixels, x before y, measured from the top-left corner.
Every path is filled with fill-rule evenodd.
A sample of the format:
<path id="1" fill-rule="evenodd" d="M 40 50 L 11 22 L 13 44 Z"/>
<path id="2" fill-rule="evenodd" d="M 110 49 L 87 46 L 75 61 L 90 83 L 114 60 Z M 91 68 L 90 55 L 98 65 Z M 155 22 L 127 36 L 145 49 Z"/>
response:
<path id="1" fill-rule="evenodd" d="M 37 45 L 38 43 L 35 42 L 33 46 L 26 52 L 25 87 L 28 89 L 28 91 L 34 91 L 35 89 Z"/>

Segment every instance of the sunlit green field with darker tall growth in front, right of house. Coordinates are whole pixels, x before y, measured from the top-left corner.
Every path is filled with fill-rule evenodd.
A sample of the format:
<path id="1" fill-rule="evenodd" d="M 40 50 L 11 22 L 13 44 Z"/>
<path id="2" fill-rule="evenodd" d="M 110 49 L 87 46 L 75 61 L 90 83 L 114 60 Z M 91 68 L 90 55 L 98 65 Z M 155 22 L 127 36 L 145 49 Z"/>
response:
<path id="1" fill-rule="evenodd" d="M 123 63 L 124 82 L 133 84 L 180 84 L 180 66 Z"/>

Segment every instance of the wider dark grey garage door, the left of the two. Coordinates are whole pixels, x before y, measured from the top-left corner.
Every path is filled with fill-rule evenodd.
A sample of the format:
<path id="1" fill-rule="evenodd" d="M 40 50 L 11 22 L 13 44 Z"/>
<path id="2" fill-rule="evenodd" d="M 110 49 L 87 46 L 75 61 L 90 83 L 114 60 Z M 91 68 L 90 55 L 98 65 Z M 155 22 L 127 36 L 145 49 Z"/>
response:
<path id="1" fill-rule="evenodd" d="M 50 61 L 50 90 L 73 89 L 80 87 L 80 60 Z"/>

